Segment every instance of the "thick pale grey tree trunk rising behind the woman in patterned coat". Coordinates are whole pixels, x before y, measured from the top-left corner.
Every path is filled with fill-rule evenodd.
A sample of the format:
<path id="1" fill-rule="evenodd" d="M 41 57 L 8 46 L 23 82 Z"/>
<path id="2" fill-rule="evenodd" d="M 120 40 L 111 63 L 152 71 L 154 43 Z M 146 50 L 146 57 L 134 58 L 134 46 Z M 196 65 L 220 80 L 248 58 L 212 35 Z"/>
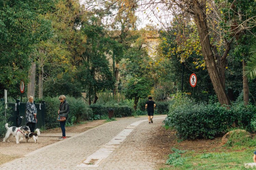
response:
<path id="1" fill-rule="evenodd" d="M 35 95 L 35 68 L 36 68 L 36 64 L 35 62 L 32 62 L 31 68 L 29 69 L 29 72 L 28 72 L 29 83 L 28 83 L 27 97 Z"/>

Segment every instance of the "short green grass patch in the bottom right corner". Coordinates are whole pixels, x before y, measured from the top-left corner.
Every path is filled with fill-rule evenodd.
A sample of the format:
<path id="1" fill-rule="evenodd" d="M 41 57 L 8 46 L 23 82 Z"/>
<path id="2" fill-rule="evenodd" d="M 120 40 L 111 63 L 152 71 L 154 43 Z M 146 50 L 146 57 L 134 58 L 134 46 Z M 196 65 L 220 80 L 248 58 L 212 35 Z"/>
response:
<path id="1" fill-rule="evenodd" d="M 245 169 L 245 163 L 253 162 L 253 148 L 237 152 L 212 152 L 197 154 L 188 152 L 178 156 L 176 161 L 172 161 L 172 166 L 162 168 L 170 169 Z M 172 156 L 173 157 L 173 156 Z"/>

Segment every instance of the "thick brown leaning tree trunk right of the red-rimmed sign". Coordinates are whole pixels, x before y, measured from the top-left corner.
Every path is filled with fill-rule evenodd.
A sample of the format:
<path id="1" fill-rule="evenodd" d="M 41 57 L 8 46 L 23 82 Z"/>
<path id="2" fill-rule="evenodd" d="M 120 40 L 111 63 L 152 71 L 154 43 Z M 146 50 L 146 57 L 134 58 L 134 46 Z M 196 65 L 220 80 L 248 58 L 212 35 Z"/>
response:
<path id="1" fill-rule="evenodd" d="M 192 10 L 195 13 L 194 19 L 195 19 L 199 37 L 200 37 L 202 55 L 204 57 L 204 61 L 207 66 L 207 70 L 208 70 L 210 79 L 212 81 L 213 88 L 218 97 L 218 101 L 221 104 L 230 105 L 230 101 L 228 99 L 225 88 L 223 86 L 219 71 L 215 63 L 215 58 L 211 49 L 209 31 L 207 26 L 207 18 L 205 15 L 206 13 L 205 1 L 203 1 L 201 4 L 199 4 L 198 2 L 195 2 L 192 6 Z"/>

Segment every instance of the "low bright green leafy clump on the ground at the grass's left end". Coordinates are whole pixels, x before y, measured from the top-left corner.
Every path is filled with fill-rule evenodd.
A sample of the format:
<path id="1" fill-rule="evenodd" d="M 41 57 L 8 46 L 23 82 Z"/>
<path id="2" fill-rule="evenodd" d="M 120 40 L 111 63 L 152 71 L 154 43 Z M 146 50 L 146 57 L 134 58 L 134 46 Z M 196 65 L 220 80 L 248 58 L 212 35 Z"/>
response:
<path id="1" fill-rule="evenodd" d="M 172 148 L 174 153 L 168 155 L 168 159 L 165 164 L 172 166 L 181 166 L 186 161 L 186 157 L 181 157 L 181 153 L 185 153 L 186 151 L 182 151 L 176 148 Z"/>

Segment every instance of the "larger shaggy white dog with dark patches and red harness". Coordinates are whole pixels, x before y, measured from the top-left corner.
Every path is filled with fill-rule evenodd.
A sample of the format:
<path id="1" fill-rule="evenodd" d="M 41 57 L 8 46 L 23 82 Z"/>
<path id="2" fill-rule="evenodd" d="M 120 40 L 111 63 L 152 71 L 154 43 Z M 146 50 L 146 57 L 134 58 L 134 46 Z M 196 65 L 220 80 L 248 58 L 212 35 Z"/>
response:
<path id="1" fill-rule="evenodd" d="M 25 134 L 30 133 L 30 129 L 28 126 L 21 126 L 19 128 L 12 126 L 8 127 L 8 123 L 5 124 L 5 128 L 7 129 L 7 132 L 3 138 L 3 142 L 7 140 L 7 142 L 10 142 L 9 139 L 11 139 L 13 136 L 16 138 L 16 143 L 18 144 L 20 141 L 23 140 L 23 136 Z"/>

